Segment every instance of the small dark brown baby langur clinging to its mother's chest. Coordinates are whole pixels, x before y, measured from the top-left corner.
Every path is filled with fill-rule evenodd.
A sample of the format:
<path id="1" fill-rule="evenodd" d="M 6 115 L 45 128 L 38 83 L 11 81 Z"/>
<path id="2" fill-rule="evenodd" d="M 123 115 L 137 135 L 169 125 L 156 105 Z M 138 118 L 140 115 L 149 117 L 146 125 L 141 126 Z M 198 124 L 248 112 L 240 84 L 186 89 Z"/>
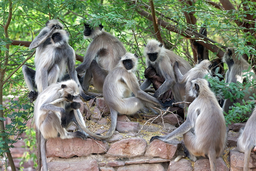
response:
<path id="1" fill-rule="evenodd" d="M 165 79 L 162 76 L 158 76 L 156 74 L 156 71 L 153 67 L 148 67 L 144 71 L 144 77 L 146 79 L 149 79 L 152 82 L 152 85 L 155 90 L 158 90 L 159 87 L 164 83 Z M 162 100 L 163 102 L 165 101 L 170 101 L 173 99 L 173 94 L 172 90 L 169 89 L 167 90 L 164 94 L 161 94 L 158 100 Z"/>

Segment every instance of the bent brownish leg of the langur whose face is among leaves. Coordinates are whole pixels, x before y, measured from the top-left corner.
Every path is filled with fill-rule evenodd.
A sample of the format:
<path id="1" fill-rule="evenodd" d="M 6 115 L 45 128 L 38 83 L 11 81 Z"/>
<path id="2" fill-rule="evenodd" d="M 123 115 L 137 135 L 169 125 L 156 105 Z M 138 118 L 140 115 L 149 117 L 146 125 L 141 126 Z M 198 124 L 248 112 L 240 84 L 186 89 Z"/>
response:
<path id="1" fill-rule="evenodd" d="M 92 60 L 90 70 L 92 72 L 93 87 L 96 88 L 99 93 L 103 93 L 102 88 L 108 71 L 101 68 L 96 60 Z"/>

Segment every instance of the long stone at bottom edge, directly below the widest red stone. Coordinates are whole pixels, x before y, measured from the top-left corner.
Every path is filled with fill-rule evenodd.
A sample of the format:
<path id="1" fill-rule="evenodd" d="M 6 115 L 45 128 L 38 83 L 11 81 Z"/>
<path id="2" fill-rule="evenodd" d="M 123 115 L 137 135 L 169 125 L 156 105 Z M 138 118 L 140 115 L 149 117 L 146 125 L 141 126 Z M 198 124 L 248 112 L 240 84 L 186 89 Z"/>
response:
<path id="1" fill-rule="evenodd" d="M 47 166 L 48 170 L 99 170 L 95 159 L 79 162 L 49 162 L 47 163 Z"/>

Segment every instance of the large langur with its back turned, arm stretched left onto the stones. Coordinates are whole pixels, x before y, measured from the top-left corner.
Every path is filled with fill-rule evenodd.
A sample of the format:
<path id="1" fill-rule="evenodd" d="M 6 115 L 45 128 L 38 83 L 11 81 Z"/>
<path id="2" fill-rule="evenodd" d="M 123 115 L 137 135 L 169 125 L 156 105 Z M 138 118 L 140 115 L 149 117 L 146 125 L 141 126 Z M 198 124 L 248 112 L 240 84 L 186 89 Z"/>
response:
<path id="1" fill-rule="evenodd" d="M 190 159 L 195 162 L 196 156 L 208 157 L 211 171 L 216 170 L 216 158 L 222 155 L 226 146 L 222 109 L 204 79 L 190 81 L 189 95 L 195 100 L 188 107 L 187 120 L 165 137 L 153 136 L 150 142 L 154 139 L 168 142 L 183 134 Z M 194 129 L 195 135 L 190 132 L 191 129 Z"/>

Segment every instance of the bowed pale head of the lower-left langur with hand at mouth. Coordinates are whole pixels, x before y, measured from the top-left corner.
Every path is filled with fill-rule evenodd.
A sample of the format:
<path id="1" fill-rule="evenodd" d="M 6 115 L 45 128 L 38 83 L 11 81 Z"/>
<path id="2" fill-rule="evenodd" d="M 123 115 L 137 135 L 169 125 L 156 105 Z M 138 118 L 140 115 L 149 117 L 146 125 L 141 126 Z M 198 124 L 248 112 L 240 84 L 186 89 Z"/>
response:
<path id="1" fill-rule="evenodd" d="M 58 91 L 61 97 L 67 98 L 69 101 L 76 99 L 80 95 L 79 84 L 74 80 L 60 82 L 61 88 Z"/>

